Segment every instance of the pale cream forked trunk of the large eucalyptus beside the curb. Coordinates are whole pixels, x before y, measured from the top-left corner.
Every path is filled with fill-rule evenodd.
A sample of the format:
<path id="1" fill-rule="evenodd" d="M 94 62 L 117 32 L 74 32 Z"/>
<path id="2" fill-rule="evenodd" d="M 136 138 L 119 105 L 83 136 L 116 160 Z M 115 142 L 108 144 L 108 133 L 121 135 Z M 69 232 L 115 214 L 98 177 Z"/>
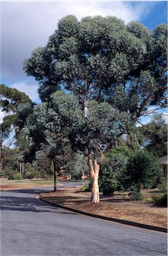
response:
<path id="1" fill-rule="evenodd" d="M 91 154 L 88 154 L 88 162 L 90 168 L 90 179 L 91 179 L 91 192 L 92 192 L 92 203 L 99 203 L 100 202 L 100 193 L 98 187 L 98 176 L 100 165 L 98 164 L 98 160 L 96 159 L 96 150 L 94 159 Z"/>

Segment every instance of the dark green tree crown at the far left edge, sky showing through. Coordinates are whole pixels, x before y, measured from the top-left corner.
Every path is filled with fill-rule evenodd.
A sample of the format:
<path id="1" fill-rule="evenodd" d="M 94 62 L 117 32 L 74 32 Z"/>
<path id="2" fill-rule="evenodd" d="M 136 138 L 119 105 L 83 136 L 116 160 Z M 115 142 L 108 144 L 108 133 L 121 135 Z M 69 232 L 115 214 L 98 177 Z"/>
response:
<path id="1" fill-rule="evenodd" d="M 1 168 L 3 160 L 8 157 L 7 153 L 11 144 L 14 144 L 18 139 L 21 146 L 21 140 L 22 142 L 25 140 L 21 137 L 21 130 L 34 104 L 25 92 L 20 92 L 16 88 L 9 88 L 5 84 L 0 84 L 0 97 L 1 112 L 4 114 L 0 123 L 0 151 L 4 145 L 8 149 L 3 150 L 6 154 L 1 154 L 0 152 Z"/>

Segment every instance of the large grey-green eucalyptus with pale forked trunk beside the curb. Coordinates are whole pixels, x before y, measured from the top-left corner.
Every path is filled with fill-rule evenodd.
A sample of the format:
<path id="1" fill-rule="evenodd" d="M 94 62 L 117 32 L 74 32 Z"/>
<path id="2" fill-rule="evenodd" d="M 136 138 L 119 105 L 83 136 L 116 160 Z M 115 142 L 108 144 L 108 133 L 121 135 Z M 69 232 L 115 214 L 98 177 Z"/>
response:
<path id="1" fill-rule="evenodd" d="M 78 99 L 83 120 L 92 116 L 87 143 L 80 138 L 76 147 L 88 150 L 92 201 L 97 203 L 100 158 L 147 114 L 148 106 L 166 104 L 167 25 L 149 31 L 141 23 L 126 25 L 116 17 L 84 17 L 79 22 L 68 15 L 23 68 L 39 81 L 42 100 L 62 88 Z"/>

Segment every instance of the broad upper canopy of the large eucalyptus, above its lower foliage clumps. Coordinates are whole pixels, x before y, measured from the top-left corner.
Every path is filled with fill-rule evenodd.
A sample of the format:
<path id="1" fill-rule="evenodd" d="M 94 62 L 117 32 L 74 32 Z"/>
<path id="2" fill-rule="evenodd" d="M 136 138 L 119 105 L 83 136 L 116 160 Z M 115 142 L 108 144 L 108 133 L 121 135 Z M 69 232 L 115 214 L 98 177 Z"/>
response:
<path id="1" fill-rule="evenodd" d="M 52 87 L 64 84 L 84 104 L 92 92 L 96 100 L 110 100 L 139 118 L 143 103 L 159 104 L 166 90 L 158 84 L 166 79 L 166 31 L 165 24 L 150 32 L 141 23 L 125 25 L 116 17 L 85 17 L 78 22 L 68 15 L 59 21 L 46 47 L 25 60 L 24 70 L 43 84 L 43 98 Z"/>

